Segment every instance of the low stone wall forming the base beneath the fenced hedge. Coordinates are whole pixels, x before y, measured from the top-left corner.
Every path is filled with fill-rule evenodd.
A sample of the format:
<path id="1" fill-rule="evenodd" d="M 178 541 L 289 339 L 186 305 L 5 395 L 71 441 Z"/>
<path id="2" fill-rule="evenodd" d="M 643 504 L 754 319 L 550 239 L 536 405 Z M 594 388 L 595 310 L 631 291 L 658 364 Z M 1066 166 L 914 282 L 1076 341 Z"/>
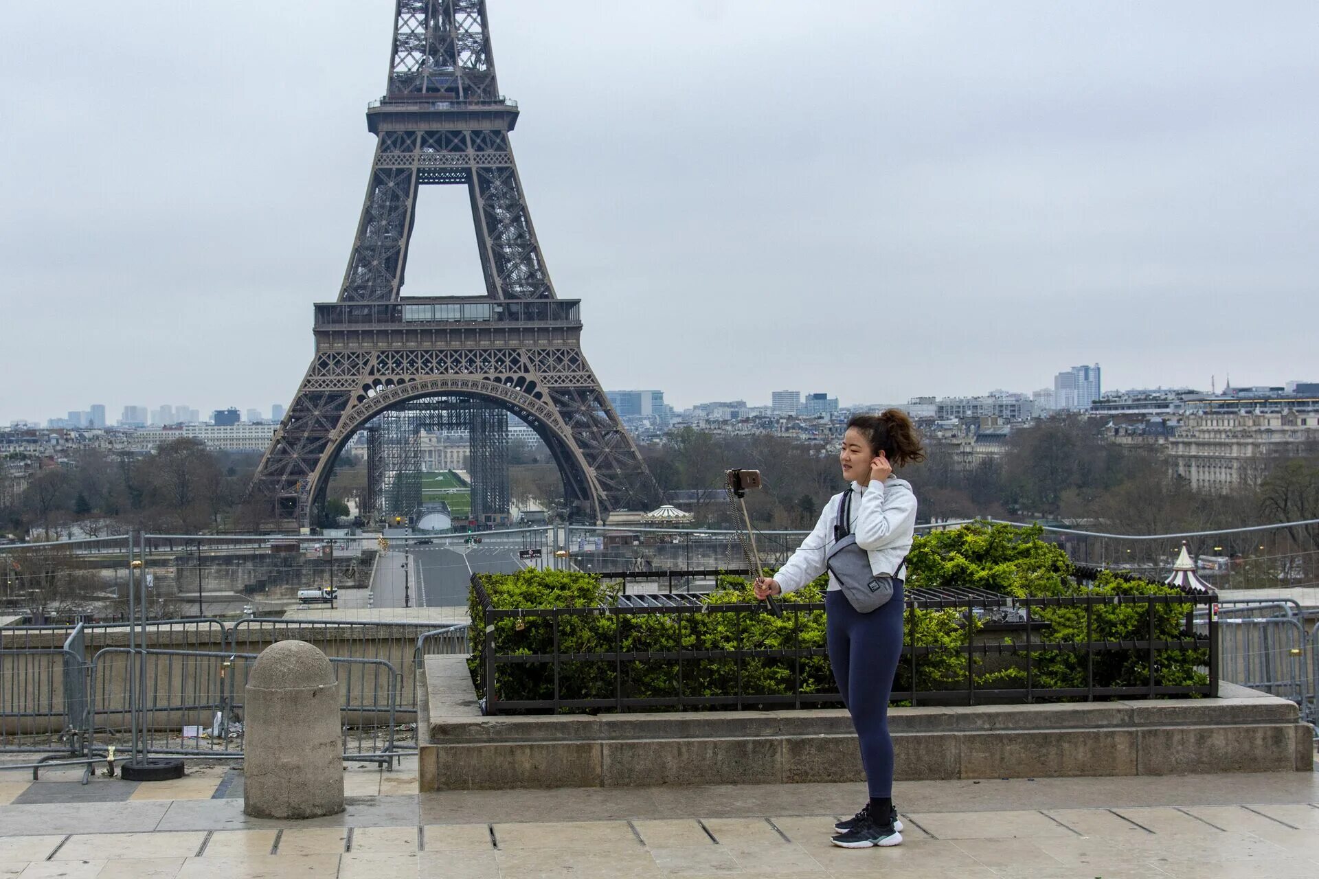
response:
<path id="1" fill-rule="evenodd" d="M 422 791 L 864 779 L 842 709 L 481 717 L 463 656 L 427 656 Z M 1220 698 L 896 708 L 898 780 L 1311 771 L 1294 702 Z"/>

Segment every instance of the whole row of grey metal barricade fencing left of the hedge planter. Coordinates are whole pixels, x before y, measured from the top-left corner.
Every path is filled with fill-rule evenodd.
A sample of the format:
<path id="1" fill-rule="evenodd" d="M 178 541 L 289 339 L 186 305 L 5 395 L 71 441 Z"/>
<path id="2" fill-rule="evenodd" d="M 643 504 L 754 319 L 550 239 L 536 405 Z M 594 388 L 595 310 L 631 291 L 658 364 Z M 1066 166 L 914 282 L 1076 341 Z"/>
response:
<path id="1" fill-rule="evenodd" d="M 92 758 L 243 755 L 252 664 L 288 639 L 317 646 L 339 681 L 344 759 L 415 747 L 426 655 L 467 654 L 467 626 L 377 621 L 162 619 L 0 627 L 0 752 Z M 290 747 L 295 747 L 290 742 Z"/>

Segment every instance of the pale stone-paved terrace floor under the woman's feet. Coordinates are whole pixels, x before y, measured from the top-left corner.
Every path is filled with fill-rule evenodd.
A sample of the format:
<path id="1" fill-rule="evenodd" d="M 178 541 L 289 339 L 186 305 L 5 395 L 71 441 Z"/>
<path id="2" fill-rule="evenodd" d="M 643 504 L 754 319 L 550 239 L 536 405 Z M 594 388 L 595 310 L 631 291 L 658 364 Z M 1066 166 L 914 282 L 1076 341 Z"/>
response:
<path id="1" fill-rule="evenodd" d="M 1310 772 L 907 781 L 897 849 L 828 843 L 861 784 L 417 793 L 415 766 L 350 767 L 348 810 L 243 814 L 243 776 L 132 783 L 0 772 L 0 876 L 663 879 L 1314 876 Z"/>

